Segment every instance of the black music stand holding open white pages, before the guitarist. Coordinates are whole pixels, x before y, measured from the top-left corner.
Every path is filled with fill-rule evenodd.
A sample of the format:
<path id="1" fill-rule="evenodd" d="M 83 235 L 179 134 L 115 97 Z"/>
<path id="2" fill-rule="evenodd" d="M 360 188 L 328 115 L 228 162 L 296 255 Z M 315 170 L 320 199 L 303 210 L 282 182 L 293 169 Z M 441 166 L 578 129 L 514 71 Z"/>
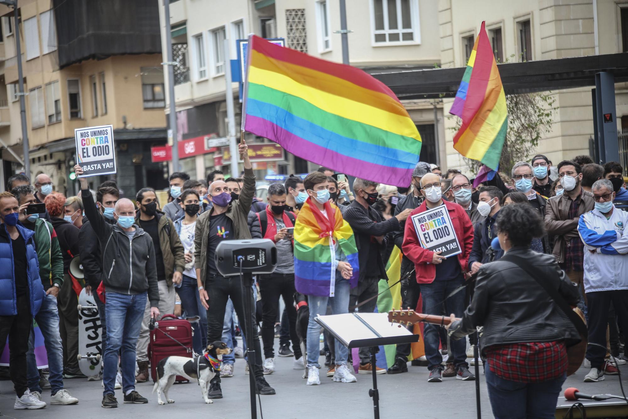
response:
<path id="1" fill-rule="evenodd" d="M 371 348 L 371 371 L 373 388 L 369 397 L 373 398 L 375 419 L 379 419 L 379 391 L 377 390 L 376 359 L 379 345 L 411 344 L 419 341 L 401 325 L 390 323 L 387 313 L 347 313 L 342 315 L 317 316 L 315 319 L 325 330 L 332 333 L 347 348 Z"/>

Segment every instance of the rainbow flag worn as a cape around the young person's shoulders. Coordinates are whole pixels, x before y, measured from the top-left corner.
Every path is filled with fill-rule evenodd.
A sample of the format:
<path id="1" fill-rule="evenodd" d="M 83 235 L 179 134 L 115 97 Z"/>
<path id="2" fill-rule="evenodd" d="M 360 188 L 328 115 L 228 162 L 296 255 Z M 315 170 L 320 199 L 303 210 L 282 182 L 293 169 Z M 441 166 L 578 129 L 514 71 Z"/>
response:
<path id="1" fill-rule="evenodd" d="M 357 285 L 359 264 L 353 230 L 337 206 L 325 203 L 325 213 L 327 218 L 308 198 L 296 218 L 295 286 L 301 294 L 335 295 L 336 245 L 353 268 L 351 288 Z"/>

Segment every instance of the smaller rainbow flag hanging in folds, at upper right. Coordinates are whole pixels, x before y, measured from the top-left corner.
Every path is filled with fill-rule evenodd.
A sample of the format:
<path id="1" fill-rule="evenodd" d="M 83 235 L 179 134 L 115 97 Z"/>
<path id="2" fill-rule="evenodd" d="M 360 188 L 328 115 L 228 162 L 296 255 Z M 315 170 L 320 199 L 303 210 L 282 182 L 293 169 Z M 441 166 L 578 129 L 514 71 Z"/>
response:
<path id="1" fill-rule="evenodd" d="M 453 137 L 453 148 L 497 169 L 508 130 L 508 113 L 484 22 L 449 113 L 462 118 L 462 126 Z"/>

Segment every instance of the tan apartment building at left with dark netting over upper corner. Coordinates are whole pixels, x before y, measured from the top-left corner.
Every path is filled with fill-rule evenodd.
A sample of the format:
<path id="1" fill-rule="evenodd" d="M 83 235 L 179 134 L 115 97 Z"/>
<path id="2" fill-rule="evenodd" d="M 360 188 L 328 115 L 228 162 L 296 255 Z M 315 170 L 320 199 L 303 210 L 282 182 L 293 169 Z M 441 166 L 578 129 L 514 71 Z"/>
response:
<path id="1" fill-rule="evenodd" d="M 55 190 L 75 193 L 68 177 L 77 161 L 74 130 L 111 124 L 118 172 L 90 178 L 90 186 L 114 178 L 127 196 L 143 186 L 165 187 L 163 164 L 150 158 L 151 147 L 166 143 L 156 2 L 21 0 L 19 28 L 13 27 L 14 13 L 0 6 L 0 139 L 7 146 L 0 183 L 23 171 L 15 49 L 20 36 L 31 179 L 46 173 Z"/>

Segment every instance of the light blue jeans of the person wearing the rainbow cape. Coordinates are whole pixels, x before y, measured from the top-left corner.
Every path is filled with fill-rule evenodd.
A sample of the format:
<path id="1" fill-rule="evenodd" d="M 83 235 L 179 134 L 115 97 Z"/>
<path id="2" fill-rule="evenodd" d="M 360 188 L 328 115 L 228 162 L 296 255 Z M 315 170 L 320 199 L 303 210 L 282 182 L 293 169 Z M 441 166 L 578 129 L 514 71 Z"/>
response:
<path id="1" fill-rule="evenodd" d="M 310 321 L 308 321 L 308 366 L 320 368 L 318 357 L 320 352 L 320 325 L 314 320 L 317 315 L 327 314 L 327 303 L 332 306 L 332 314 L 349 313 L 349 289 L 350 284 L 347 279 L 336 276 L 335 293 L 333 297 L 308 295 L 308 306 L 310 307 Z M 349 349 L 335 340 L 336 364 L 347 364 Z"/>

